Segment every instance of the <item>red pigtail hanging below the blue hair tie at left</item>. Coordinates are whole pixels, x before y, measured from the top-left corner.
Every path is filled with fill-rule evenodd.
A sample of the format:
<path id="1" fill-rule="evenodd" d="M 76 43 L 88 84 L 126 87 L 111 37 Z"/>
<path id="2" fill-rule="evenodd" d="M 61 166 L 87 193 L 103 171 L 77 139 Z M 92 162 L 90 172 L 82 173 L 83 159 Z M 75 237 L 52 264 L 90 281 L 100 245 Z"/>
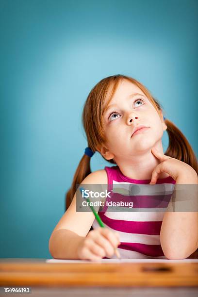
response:
<path id="1" fill-rule="evenodd" d="M 76 192 L 76 185 L 80 184 L 87 175 L 91 173 L 90 169 L 90 157 L 87 155 L 83 155 L 82 159 L 76 169 L 76 172 L 74 174 L 74 178 L 72 181 L 72 185 L 68 192 L 66 193 L 66 204 L 65 204 L 65 210 L 68 209 L 69 205 L 71 204 L 71 201 L 74 197 L 74 194 Z"/>

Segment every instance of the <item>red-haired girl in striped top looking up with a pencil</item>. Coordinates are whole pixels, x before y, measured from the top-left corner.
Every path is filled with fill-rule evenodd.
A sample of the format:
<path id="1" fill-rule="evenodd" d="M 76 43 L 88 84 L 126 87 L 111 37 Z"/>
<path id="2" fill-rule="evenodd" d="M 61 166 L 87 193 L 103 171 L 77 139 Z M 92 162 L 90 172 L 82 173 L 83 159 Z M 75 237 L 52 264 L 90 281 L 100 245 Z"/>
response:
<path id="1" fill-rule="evenodd" d="M 115 258 L 117 247 L 122 258 L 189 257 L 198 248 L 196 211 L 99 212 L 105 228 L 99 227 L 92 212 L 76 211 L 76 184 L 108 184 L 108 189 L 114 183 L 140 184 L 144 203 L 152 198 L 145 191 L 152 192 L 159 184 L 198 184 L 193 149 L 173 122 L 165 119 L 160 103 L 131 77 L 106 77 L 88 95 L 83 126 L 88 147 L 66 195 L 66 213 L 50 236 L 51 255 L 57 259 Z M 164 154 L 165 130 L 169 146 Z M 114 165 L 91 172 L 95 151 Z"/>

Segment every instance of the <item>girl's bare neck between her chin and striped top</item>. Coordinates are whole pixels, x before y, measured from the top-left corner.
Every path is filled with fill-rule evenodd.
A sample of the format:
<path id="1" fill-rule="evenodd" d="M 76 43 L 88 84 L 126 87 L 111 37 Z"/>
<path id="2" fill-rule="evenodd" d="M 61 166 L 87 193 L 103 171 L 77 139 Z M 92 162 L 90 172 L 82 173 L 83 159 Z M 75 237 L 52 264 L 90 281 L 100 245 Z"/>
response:
<path id="1" fill-rule="evenodd" d="M 162 143 L 155 146 L 161 153 L 164 154 Z M 125 176 L 135 180 L 150 180 L 154 168 L 160 164 L 151 149 L 146 152 L 130 156 L 128 159 L 115 158 L 116 164 L 119 166 L 120 171 Z M 169 175 L 165 172 L 160 173 L 158 179 L 163 179 Z"/>

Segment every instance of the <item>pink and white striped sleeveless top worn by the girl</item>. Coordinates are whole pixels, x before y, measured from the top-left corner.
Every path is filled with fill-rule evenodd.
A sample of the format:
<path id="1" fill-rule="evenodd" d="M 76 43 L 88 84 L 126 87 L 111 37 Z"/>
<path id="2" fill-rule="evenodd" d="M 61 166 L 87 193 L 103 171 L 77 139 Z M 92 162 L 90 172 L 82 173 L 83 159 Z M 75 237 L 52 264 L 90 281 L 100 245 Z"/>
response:
<path id="1" fill-rule="evenodd" d="M 118 166 L 105 166 L 104 169 L 108 177 L 108 192 L 112 193 L 111 198 L 106 198 L 108 205 L 110 201 L 132 201 L 132 208 L 124 206 L 113 211 L 114 208 L 104 206 L 102 211 L 99 210 L 105 227 L 119 233 L 121 258 L 165 258 L 160 244 L 160 229 L 175 181 L 168 176 L 158 179 L 155 185 L 149 185 L 150 180 L 126 177 Z M 92 227 L 99 228 L 96 219 Z"/>

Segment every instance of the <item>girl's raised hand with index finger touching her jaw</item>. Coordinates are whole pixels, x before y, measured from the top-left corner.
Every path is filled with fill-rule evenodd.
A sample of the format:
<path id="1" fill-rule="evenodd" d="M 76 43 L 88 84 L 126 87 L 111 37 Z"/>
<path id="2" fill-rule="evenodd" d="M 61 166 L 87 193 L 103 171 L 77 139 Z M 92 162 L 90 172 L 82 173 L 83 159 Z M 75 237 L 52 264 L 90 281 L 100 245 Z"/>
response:
<path id="1" fill-rule="evenodd" d="M 161 172 L 168 173 L 169 176 L 171 176 L 175 181 L 177 181 L 177 179 L 181 176 L 191 177 L 197 175 L 197 172 L 185 162 L 166 156 L 159 152 L 156 148 L 151 148 L 151 152 L 156 158 L 160 160 L 161 163 L 158 164 L 153 170 L 149 184 L 155 184 Z"/>

